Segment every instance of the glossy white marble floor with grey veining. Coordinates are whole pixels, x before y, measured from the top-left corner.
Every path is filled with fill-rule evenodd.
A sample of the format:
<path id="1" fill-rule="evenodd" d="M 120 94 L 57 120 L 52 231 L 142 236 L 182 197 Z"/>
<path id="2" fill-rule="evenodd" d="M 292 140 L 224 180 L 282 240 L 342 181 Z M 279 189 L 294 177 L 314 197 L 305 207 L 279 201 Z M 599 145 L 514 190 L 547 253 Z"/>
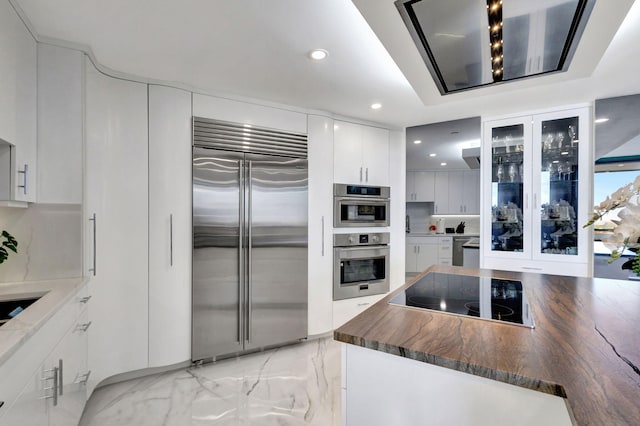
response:
<path id="1" fill-rule="evenodd" d="M 340 344 L 312 340 L 105 386 L 81 426 L 340 425 Z"/>

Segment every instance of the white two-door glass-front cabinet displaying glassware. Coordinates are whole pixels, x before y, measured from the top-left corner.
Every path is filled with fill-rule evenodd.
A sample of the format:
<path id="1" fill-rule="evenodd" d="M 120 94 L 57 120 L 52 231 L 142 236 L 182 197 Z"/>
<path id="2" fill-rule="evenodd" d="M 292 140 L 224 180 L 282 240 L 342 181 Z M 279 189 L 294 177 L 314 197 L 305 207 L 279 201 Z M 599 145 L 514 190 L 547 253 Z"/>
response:
<path id="1" fill-rule="evenodd" d="M 483 267 L 589 275 L 589 111 L 484 122 Z"/>

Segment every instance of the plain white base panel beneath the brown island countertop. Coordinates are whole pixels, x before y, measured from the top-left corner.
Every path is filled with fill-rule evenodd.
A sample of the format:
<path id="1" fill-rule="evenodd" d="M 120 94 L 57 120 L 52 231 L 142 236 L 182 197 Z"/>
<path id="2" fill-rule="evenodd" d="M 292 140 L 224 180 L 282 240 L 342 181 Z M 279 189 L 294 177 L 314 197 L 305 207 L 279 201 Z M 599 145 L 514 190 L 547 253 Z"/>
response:
<path id="1" fill-rule="evenodd" d="M 342 345 L 346 426 L 571 425 L 564 398 Z"/>

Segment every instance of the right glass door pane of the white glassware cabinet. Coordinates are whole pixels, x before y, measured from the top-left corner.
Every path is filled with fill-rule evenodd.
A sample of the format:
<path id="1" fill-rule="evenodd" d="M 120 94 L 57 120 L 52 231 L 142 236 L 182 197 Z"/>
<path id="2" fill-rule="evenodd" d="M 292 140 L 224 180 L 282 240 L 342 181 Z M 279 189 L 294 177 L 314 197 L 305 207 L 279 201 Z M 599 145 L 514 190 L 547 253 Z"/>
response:
<path id="1" fill-rule="evenodd" d="M 579 124 L 577 116 L 541 121 L 538 253 L 578 255 Z"/>

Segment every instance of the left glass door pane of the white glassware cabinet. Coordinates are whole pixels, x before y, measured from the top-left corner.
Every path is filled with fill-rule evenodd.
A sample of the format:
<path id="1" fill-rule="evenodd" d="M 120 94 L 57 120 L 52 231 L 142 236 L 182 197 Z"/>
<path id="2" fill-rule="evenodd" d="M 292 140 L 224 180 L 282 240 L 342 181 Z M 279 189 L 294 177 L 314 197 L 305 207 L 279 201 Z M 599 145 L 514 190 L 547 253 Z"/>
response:
<path id="1" fill-rule="evenodd" d="M 522 252 L 524 235 L 524 124 L 491 130 L 491 251 Z M 530 160 L 529 160 L 530 161 Z"/>

